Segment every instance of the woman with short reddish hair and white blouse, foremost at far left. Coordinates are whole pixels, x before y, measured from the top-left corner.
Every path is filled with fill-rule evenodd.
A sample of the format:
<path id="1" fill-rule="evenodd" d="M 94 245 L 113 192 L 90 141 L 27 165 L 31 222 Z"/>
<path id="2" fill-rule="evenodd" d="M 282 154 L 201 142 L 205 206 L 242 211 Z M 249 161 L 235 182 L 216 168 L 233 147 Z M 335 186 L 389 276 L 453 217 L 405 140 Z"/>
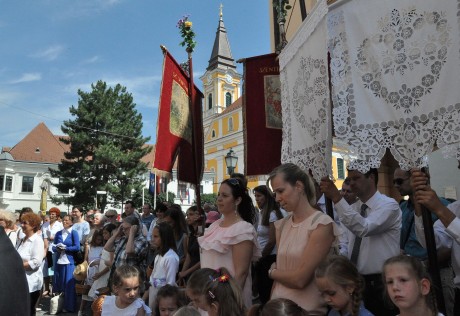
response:
<path id="1" fill-rule="evenodd" d="M 29 284 L 30 315 L 35 315 L 35 304 L 40 298 L 43 286 L 41 264 L 45 256 L 45 246 L 42 237 L 37 234 L 40 224 L 41 218 L 37 214 L 25 213 L 21 216 L 21 228 L 25 237 L 19 241 L 17 250 L 22 258 L 22 265 Z"/>

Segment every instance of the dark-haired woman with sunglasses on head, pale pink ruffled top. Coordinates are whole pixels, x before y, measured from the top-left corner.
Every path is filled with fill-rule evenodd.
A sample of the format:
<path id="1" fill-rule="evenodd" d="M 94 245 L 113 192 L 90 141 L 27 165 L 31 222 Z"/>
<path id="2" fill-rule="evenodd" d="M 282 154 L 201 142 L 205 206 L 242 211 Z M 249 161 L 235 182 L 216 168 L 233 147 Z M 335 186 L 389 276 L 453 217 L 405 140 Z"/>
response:
<path id="1" fill-rule="evenodd" d="M 254 229 L 256 211 L 241 180 L 224 180 L 217 196 L 223 218 L 215 221 L 198 238 L 201 267 L 225 267 L 243 289 L 245 305 L 252 305 L 251 261 L 260 257 Z"/>

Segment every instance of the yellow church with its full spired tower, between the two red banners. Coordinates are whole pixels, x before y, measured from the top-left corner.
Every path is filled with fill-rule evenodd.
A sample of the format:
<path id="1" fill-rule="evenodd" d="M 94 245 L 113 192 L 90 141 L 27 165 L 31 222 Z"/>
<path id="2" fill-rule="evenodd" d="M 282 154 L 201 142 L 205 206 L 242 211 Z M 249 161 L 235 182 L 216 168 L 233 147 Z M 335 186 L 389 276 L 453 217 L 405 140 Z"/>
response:
<path id="1" fill-rule="evenodd" d="M 244 169 L 244 135 L 241 80 L 230 50 L 227 30 L 219 13 L 214 46 L 203 82 L 203 131 L 205 170 L 214 173 L 213 192 L 229 177 L 225 156 L 231 152 L 238 157 L 235 172 Z"/>

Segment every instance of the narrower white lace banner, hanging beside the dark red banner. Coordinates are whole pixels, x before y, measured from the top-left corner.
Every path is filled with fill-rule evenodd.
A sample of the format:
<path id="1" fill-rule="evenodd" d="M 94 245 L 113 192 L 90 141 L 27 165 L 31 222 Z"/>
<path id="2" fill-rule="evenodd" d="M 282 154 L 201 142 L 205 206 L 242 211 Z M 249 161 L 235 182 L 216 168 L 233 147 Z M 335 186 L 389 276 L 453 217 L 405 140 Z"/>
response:
<path id="1" fill-rule="evenodd" d="M 318 1 L 279 55 L 283 143 L 281 162 L 331 174 L 332 135 L 326 46 L 326 1 Z"/>

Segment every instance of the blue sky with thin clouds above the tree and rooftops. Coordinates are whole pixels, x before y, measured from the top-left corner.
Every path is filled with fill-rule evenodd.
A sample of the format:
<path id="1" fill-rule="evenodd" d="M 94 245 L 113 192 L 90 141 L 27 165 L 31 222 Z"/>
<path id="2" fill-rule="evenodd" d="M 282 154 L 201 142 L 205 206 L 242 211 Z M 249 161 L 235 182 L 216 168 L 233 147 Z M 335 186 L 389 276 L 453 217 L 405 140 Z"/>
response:
<path id="1" fill-rule="evenodd" d="M 143 116 L 143 135 L 154 143 L 159 46 L 186 60 L 176 23 L 190 14 L 201 87 L 220 3 L 235 60 L 269 53 L 267 0 L 0 0 L 0 146 L 14 146 L 40 122 L 62 135 L 77 90 L 90 91 L 98 80 L 127 87 Z"/>

